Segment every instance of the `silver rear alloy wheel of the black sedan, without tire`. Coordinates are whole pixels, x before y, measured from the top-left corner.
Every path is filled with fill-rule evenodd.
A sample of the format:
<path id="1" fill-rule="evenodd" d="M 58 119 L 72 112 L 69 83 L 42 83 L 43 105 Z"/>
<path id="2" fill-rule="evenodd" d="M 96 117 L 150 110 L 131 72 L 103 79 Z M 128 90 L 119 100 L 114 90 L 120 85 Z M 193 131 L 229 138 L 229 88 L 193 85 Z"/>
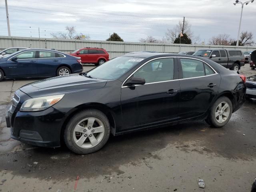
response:
<path id="1" fill-rule="evenodd" d="M 230 114 L 230 106 L 228 102 L 224 101 L 218 104 L 215 110 L 215 119 L 218 123 L 223 123 L 228 119 Z"/>

